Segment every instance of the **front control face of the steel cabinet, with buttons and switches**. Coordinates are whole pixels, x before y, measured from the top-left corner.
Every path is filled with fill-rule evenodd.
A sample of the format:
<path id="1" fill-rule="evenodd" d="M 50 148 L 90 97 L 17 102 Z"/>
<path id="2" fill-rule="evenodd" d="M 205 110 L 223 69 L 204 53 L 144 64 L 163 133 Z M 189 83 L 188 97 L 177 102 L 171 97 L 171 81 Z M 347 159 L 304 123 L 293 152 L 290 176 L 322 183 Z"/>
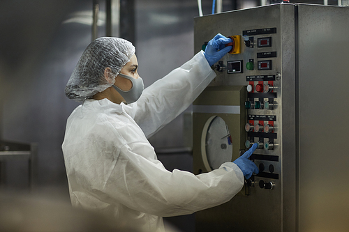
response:
<path id="1" fill-rule="evenodd" d="M 274 10 L 271 12 L 268 12 L 269 8 L 266 10 L 267 15 L 275 15 L 275 12 L 272 12 Z M 262 21 L 260 17 L 263 17 L 263 22 L 259 22 Z M 205 49 L 207 42 L 216 33 L 232 38 L 232 42 L 228 44 L 232 46 L 232 50 L 212 65 L 216 78 L 193 102 L 193 171 L 195 174 L 211 171 L 214 169 L 212 167 L 219 167 L 216 164 L 217 160 L 223 163 L 229 157 L 230 161 L 233 161 L 253 144 L 258 144 L 258 148 L 250 160 L 255 162 L 259 169 L 258 174 L 253 174 L 251 178 L 245 180 L 242 191 L 230 202 L 216 209 L 197 212 L 197 224 L 200 224 L 198 231 L 205 231 L 208 228 L 225 231 L 224 228 L 207 225 L 206 214 L 215 217 L 216 222 L 227 223 L 218 217 L 219 215 L 224 217 L 223 214 L 228 208 L 253 208 L 258 211 L 253 215 L 253 219 L 257 215 L 269 214 L 274 219 L 269 221 L 269 217 L 261 218 L 260 223 L 268 222 L 269 231 L 279 231 L 281 228 L 282 212 L 279 208 L 283 186 L 281 184 L 283 178 L 281 60 L 284 58 L 280 24 L 275 19 L 265 20 L 264 17 L 263 14 L 253 15 L 253 13 L 247 17 L 242 11 L 236 11 L 195 19 L 195 52 Z M 258 23 L 251 23 L 251 20 Z M 215 25 L 212 27 L 214 31 L 207 30 L 207 25 Z M 231 91 L 228 91 L 228 86 L 232 88 Z M 235 93 L 237 90 L 239 94 Z M 232 101 L 235 98 L 239 101 L 228 102 L 228 99 Z M 198 111 L 202 107 L 209 109 L 207 105 L 216 105 L 216 108 L 211 111 Z M 239 107 L 239 111 L 223 114 L 223 111 L 218 110 L 223 106 Z M 221 136 L 223 139 L 218 138 L 218 135 L 214 139 L 212 133 L 207 133 L 207 131 L 219 131 L 219 128 L 210 128 L 214 123 L 209 120 L 215 117 L 219 117 L 223 125 L 217 134 L 220 136 L 227 134 L 226 137 Z M 210 137 L 205 134 L 210 134 Z M 225 138 L 229 140 L 225 141 Z M 228 156 L 228 153 L 231 155 Z M 230 215 L 234 218 L 228 223 L 232 231 L 244 229 L 240 223 L 249 223 L 248 218 L 239 215 L 239 212 L 230 212 Z M 258 229 L 258 226 L 251 225 L 248 231 L 258 231 Z"/>

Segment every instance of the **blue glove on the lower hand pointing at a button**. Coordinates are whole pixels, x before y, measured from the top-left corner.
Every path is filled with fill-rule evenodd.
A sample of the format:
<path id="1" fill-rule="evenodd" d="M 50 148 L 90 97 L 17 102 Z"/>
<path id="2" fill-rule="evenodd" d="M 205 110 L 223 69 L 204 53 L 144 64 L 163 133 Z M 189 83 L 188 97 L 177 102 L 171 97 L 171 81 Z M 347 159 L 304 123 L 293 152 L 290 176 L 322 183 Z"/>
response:
<path id="1" fill-rule="evenodd" d="M 244 155 L 238 157 L 233 161 L 233 163 L 237 164 L 237 166 L 241 169 L 246 179 L 249 179 L 252 176 L 252 173 L 257 174 L 259 172 L 258 167 L 255 165 L 255 163 L 251 160 L 248 160 L 257 146 L 258 144 L 253 144 L 253 146 L 249 150 L 247 150 Z"/>

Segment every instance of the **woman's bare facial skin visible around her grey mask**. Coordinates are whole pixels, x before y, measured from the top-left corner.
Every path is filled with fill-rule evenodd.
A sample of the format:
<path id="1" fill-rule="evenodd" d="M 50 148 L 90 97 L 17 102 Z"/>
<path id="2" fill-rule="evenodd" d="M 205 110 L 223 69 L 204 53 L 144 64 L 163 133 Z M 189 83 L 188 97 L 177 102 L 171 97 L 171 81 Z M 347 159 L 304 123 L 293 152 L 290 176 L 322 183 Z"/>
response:
<path id="1" fill-rule="evenodd" d="M 130 61 L 126 63 L 126 65 L 123 68 L 121 68 L 120 73 L 138 79 L 140 75 L 138 75 L 137 56 L 133 55 Z M 118 86 L 123 91 L 129 91 L 132 88 L 132 82 L 129 79 L 120 77 L 119 75 L 115 77 L 114 85 Z"/>

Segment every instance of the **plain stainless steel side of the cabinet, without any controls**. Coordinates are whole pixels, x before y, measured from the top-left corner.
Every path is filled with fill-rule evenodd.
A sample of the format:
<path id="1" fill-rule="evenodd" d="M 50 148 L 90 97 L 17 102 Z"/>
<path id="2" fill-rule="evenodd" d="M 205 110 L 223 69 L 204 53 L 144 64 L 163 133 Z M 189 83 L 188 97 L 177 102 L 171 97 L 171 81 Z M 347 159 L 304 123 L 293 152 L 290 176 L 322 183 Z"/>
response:
<path id="1" fill-rule="evenodd" d="M 299 231 L 348 231 L 349 8 L 298 9 Z"/>

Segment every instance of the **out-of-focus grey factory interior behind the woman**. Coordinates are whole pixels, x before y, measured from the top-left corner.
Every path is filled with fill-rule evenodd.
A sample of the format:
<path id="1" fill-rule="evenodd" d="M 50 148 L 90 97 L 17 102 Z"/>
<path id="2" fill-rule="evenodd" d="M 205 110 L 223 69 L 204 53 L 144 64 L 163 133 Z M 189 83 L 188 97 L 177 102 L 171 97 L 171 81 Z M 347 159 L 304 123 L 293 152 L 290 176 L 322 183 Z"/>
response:
<path id="1" fill-rule="evenodd" d="M 272 2 L 223 0 L 221 11 Z M 203 15 L 212 13 L 212 3 L 202 0 Z M 101 36 L 130 40 L 147 87 L 191 59 L 198 16 L 196 0 L 1 0 L 0 191 L 68 203 L 61 144 L 79 104 L 64 88 L 85 47 Z M 150 141 L 167 169 L 192 171 L 191 108 Z M 180 231 L 195 229 L 193 215 L 166 220 Z"/>

